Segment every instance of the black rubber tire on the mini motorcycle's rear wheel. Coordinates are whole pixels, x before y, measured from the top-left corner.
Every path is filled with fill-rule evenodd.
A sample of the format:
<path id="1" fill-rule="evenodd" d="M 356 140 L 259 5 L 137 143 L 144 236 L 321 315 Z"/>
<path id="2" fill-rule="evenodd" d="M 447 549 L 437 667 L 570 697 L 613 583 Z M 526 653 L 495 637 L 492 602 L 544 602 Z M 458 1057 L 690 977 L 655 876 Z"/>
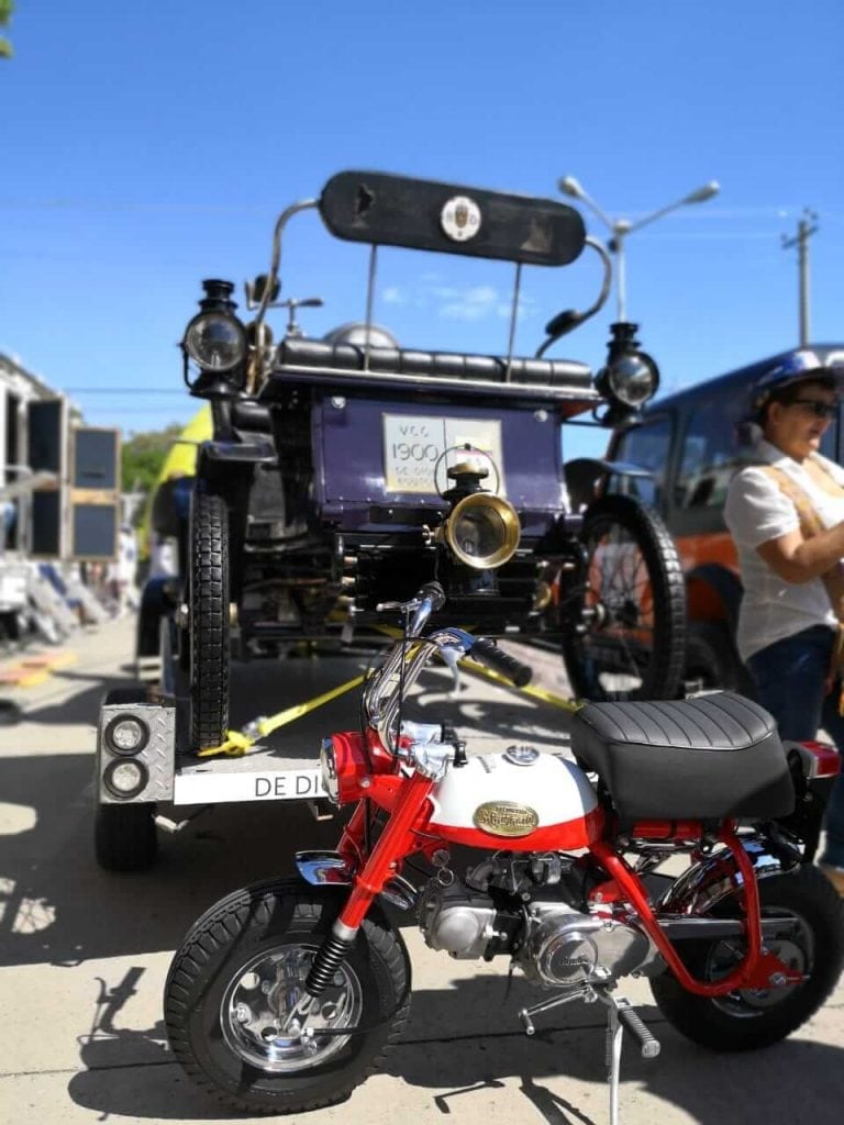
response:
<path id="1" fill-rule="evenodd" d="M 790 991 L 781 1005 L 758 1009 L 756 1016 L 734 1016 L 706 997 L 686 992 L 670 972 L 654 978 L 650 990 L 667 1022 L 682 1035 L 710 1051 L 752 1051 L 779 1043 L 797 1030 L 824 1004 L 844 965 L 844 904 L 828 879 L 817 867 L 760 880 L 760 898 L 765 907 L 793 911 L 810 927 L 815 963 L 810 978 Z M 728 912 L 724 909 L 718 912 Z M 736 903 L 731 903 L 736 914 Z M 677 948 L 693 975 L 704 979 L 710 942 L 683 942 Z M 818 958 L 818 953 L 821 960 Z M 749 1010 L 749 1009 L 748 1009 Z"/>

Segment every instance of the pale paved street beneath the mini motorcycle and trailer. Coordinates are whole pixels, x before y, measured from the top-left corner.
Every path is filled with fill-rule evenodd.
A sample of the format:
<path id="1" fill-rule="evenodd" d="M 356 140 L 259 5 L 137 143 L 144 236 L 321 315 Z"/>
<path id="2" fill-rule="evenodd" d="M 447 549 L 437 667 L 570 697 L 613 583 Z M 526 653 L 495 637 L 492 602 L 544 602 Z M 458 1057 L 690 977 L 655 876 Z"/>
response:
<path id="1" fill-rule="evenodd" d="M 96 866 L 95 722 L 105 692 L 131 675 L 132 627 L 124 619 L 74 637 L 62 649 L 75 655 L 74 663 L 30 687 L 2 688 L 25 713 L 17 726 L 0 728 L 1 1125 L 232 1119 L 187 1081 L 168 1053 L 161 991 L 170 956 L 215 899 L 254 879 L 289 872 L 294 847 L 331 846 L 335 837 L 331 822 L 317 824 L 298 803 L 218 807 L 168 837 L 153 871 L 111 875 Z M 550 684 L 555 665 L 550 658 L 542 663 Z M 263 669 L 248 675 L 253 684 L 266 681 Z M 353 702 L 348 706 L 353 726 Z M 559 737 L 558 712 L 496 685 L 476 684 L 456 708 L 459 727 L 477 724 L 487 737 L 492 730 L 538 745 Z M 272 706 L 259 709 L 267 713 Z M 386 1072 L 345 1105 L 297 1120 L 604 1125 L 601 1011 L 557 1009 L 538 1018 L 538 1034 L 528 1040 L 515 1016 L 527 986 L 515 982 L 505 997 L 503 961 L 451 961 L 425 948 L 404 916 L 396 920 L 415 974 L 405 1038 Z M 674 1033 L 643 982 L 632 982 L 627 994 L 643 1001 L 663 1053 L 646 1062 L 627 1042 L 622 1122 L 841 1120 L 841 986 L 792 1040 L 725 1056 L 707 1054 Z"/>

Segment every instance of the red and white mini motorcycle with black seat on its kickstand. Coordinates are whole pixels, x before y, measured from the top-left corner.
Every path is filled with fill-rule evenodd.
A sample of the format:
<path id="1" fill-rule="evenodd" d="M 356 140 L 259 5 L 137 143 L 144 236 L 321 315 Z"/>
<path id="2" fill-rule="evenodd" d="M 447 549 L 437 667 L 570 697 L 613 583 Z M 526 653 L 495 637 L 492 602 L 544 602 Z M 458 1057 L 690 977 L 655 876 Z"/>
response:
<path id="1" fill-rule="evenodd" d="M 775 1043 L 807 1020 L 844 961 L 844 912 L 807 860 L 837 755 L 780 742 L 731 693 L 582 703 L 571 756 L 512 746 L 467 756 L 443 723 L 403 719 L 437 654 L 524 683 L 530 669 L 459 629 L 423 633 L 437 584 L 399 609 L 403 638 L 363 688 L 361 729 L 323 744 L 338 806 L 357 807 L 336 852 L 297 854 L 300 880 L 235 891 L 190 929 L 164 1007 L 188 1074 L 248 1113 L 303 1113 L 378 1069 L 411 1005 L 411 965 L 379 899 L 415 909 L 429 946 L 496 955 L 546 993 L 608 1009 L 610 1118 L 621 1038 L 659 1044 L 617 991 L 647 975 L 668 1023 L 707 1047 Z M 483 849 L 455 870 L 451 849 Z M 654 872 L 679 854 L 679 878 Z M 421 885 L 405 861 L 430 864 Z M 419 864 L 414 864 L 419 870 Z"/>

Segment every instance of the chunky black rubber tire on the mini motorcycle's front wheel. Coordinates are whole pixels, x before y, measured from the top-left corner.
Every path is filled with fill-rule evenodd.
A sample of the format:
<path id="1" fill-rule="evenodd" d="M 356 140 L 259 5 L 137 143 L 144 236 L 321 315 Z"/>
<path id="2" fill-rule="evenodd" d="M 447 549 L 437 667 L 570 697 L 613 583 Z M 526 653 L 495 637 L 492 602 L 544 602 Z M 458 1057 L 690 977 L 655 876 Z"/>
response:
<path id="1" fill-rule="evenodd" d="M 411 965 L 401 934 L 374 907 L 347 963 L 362 987 L 361 1025 L 325 1064 L 268 1072 L 226 1044 L 219 1008 L 230 981 L 262 948 L 322 942 L 348 891 L 272 880 L 222 899 L 191 927 L 170 966 L 164 1022 L 170 1046 L 188 1076 L 230 1108 L 293 1114 L 344 1100 L 379 1069 L 410 1010 Z M 374 1025 L 374 1026 L 372 1026 Z"/>

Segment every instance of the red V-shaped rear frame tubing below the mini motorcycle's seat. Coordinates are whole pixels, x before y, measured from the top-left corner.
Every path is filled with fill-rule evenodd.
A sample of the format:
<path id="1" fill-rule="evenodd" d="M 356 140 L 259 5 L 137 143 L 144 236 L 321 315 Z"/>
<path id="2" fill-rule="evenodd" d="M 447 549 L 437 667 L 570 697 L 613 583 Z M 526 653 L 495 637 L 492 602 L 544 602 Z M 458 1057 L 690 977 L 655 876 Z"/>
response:
<path id="1" fill-rule="evenodd" d="M 782 978 L 778 983 L 793 984 L 801 981 L 802 974 L 796 973 L 783 964 L 779 957 L 772 953 L 762 952 L 762 919 L 760 914 L 758 884 L 753 870 L 749 856 L 742 847 L 738 837 L 731 826 L 725 825 L 719 834 L 719 839 L 733 853 L 744 885 L 744 908 L 745 908 L 745 937 L 747 939 L 747 952 L 740 964 L 733 970 L 729 975 L 721 980 L 707 983 L 692 976 L 683 962 L 680 960 L 676 950 L 662 930 L 656 915 L 654 914 L 647 892 L 641 881 L 635 872 L 630 870 L 625 860 L 617 855 L 612 848 L 603 840 L 592 845 L 592 854 L 601 863 L 608 874 L 616 881 L 617 886 L 623 897 L 636 908 L 639 918 L 648 932 L 648 935 L 662 953 L 668 968 L 676 976 L 677 981 L 689 992 L 697 996 L 725 996 L 737 988 L 771 988 L 772 978 Z"/>

